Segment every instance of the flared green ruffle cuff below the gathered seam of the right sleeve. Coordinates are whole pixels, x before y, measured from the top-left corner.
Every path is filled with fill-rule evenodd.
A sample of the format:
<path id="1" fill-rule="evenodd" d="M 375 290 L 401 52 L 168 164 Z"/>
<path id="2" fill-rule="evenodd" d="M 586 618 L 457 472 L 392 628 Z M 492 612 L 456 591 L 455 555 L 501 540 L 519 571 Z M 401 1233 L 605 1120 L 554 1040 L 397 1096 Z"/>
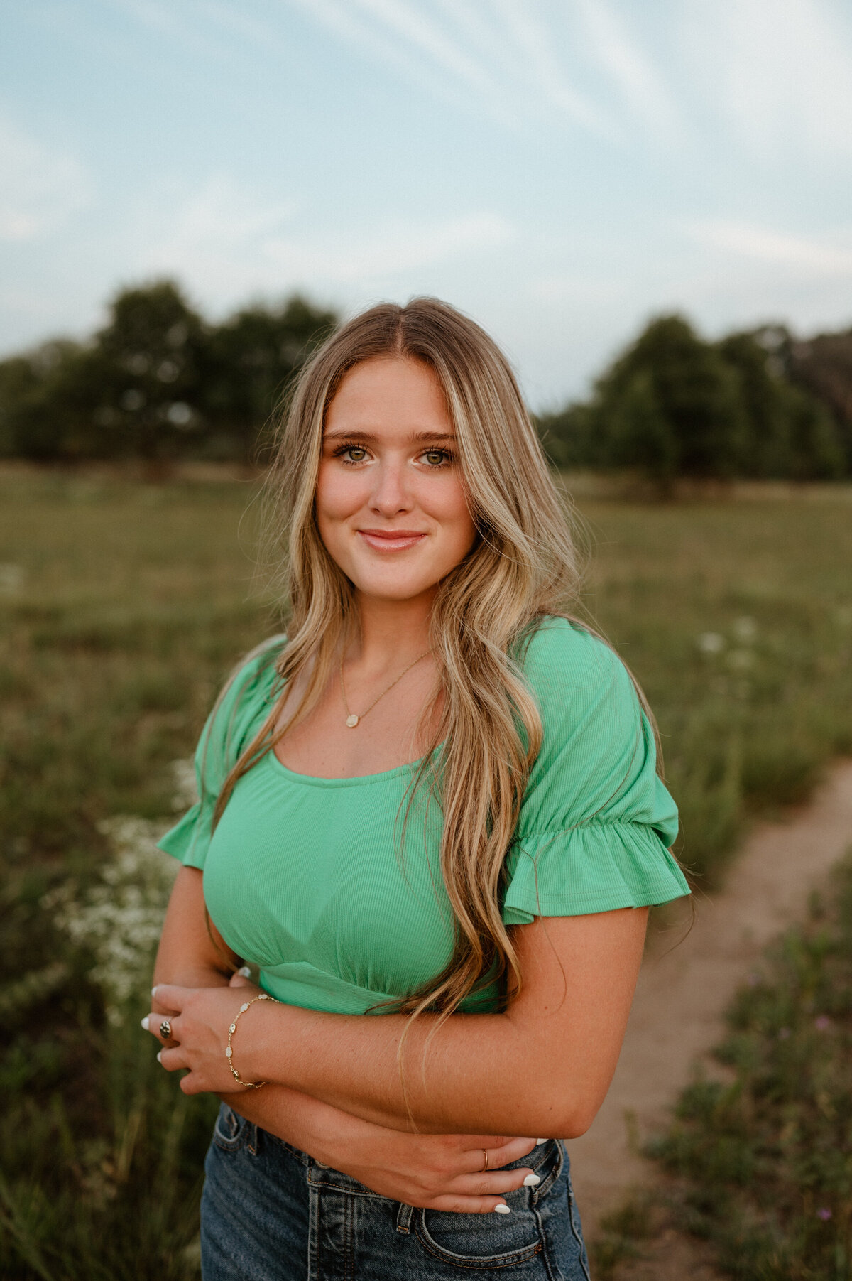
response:
<path id="1" fill-rule="evenodd" d="M 507 925 L 650 907 L 690 893 L 658 831 L 638 822 L 586 822 L 518 842 L 503 903 Z"/>

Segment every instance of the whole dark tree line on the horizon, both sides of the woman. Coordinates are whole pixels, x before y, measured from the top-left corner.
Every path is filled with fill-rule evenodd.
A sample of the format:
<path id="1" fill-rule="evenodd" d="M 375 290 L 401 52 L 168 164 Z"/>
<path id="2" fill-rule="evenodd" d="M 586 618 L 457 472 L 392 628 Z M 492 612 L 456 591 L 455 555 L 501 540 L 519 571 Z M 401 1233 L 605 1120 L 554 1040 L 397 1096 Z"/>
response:
<path id="1" fill-rule="evenodd" d="M 301 296 L 221 324 L 173 281 L 122 290 L 86 342 L 0 361 L 0 456 L 41 462 L 256 461 L 274 410 L 338 316 Z M 650 322 L 591 396 L 536 420 L 559 468 L 826 480 L 852 475 L 852 329 L 798 341 L 762 325 L 705 341 Z"/>

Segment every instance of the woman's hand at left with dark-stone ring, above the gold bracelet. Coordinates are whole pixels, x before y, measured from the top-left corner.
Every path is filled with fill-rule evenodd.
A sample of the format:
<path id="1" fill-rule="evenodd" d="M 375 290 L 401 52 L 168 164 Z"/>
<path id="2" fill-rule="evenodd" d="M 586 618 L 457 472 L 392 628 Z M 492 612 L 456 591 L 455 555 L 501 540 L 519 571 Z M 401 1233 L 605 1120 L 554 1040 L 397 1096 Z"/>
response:
<path id="1" fill-rule="evenodd" d="M 157 1057 L 166 1072 L 188 1070 L 180 1079 L 184 1094 L 230 1094 L 239 1089 L 225 1054 L 228 1030 L 248 1002 L 260 995 L 260 988 L 247 981 L 239 988 L 178 988 L 170 984 L 154 988 L 154 1011 L 146 1015 L 142 1026 L 162 1045 Z M 166 1025 L 170 1035 L 164 1035 L 161 1030 Z M 238 1067 L 237 1038 L 233 1049 L 234 1067 Z"/>

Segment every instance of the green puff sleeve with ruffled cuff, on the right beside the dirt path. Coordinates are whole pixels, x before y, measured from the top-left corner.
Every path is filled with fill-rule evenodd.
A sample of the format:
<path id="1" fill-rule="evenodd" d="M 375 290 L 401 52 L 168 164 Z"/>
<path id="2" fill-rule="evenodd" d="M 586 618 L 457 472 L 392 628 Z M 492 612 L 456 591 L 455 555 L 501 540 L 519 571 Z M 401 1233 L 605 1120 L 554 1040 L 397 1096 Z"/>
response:
<path id="1" fill-rule="evenodd" d="M 522 666 L 544 737 L 507 860 L 503 920 L 530 924 L 688 894 L 668 851 L 677 807 L 618 656 L 553 617 L 527 644 Z"/>

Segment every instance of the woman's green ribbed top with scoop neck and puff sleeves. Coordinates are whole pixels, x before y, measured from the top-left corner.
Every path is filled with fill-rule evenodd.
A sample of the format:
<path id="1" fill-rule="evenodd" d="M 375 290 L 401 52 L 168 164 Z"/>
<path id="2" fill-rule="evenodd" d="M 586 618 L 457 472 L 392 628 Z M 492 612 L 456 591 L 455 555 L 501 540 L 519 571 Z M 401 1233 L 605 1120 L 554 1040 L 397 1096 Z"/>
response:
<path id="1" fill-rule="evenodd" d="M 203 869 L 211 920 L 238 956 L 260 966 L 266 991 L 308 1009 L 365 1013 L 449 959 L 440 811 L 416 802 L 400 848 L 420 762 L 317 779 L 269 752 L 238 781 L 211 836 L 221 783 L 280 692 L 275 660 L 284 643 L 275 637 L 248 661 L 209 717 L 196 752 L 202 799 L 160 847 Z M 677 808 L 655 772 L 654 735 L 623 664 L 587 632 L 549 617 L 522 666 L 544 740 L 507 856 L 503 920 L 688 894 L 668 852 Z M 496 995 L 487 988 L 463 1008 L 494 1008 Z"/>

